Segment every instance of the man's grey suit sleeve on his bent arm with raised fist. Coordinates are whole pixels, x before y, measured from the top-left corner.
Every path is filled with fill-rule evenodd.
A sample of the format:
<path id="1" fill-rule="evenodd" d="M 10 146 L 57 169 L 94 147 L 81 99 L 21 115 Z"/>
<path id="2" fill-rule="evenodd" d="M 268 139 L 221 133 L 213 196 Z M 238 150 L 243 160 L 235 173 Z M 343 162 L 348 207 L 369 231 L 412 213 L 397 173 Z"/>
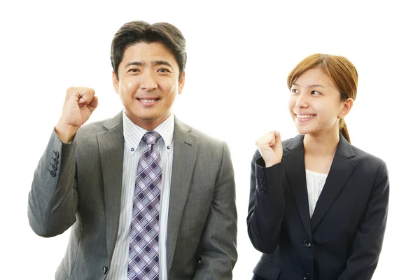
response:
<path id="1" fill-rule="evenodd" d="M 63 144 L 52 131 L 29 192 L 29 225 L 41 237 L 62 234 L 76 221 L 76 143 Z"/>

